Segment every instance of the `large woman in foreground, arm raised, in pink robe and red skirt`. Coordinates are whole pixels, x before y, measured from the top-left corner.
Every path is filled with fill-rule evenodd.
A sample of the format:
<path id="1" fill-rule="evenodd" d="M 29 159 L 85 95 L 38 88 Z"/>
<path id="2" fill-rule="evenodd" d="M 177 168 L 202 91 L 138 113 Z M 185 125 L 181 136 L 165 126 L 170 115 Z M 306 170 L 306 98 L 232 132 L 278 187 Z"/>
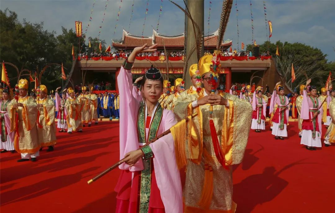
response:
<path id="1" fill-rule="evenodd" d="M 182 213 L 182 186 L 172 135 L 143 147 L 176 124 L 172 111 L 158 103 L 163 91 L 158 69 L 151 67 L 142 79 L 145 101 L 132 94 L 131 67 L 135 56 L 156 51 L 157 44 L 146 46 L 133 50 L 118 75 L 120 115 L 124 118 L 120 120 L 120 159 L 126 159 L 119 166 L 122 171 L 115 187 L 116 213 Z"/>

